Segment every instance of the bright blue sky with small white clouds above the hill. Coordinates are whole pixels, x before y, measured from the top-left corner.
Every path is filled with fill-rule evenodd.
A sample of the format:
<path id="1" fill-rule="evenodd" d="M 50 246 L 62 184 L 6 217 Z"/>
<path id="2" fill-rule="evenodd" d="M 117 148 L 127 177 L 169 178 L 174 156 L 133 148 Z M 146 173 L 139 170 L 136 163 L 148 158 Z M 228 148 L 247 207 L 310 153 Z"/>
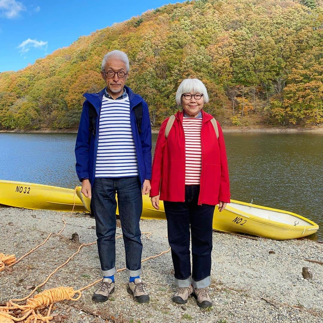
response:
<path id="1" fill-rule="evenodd" d="M 79 36 L 176 2 L 0 0 L 0 72 L 17 71 Z"/>

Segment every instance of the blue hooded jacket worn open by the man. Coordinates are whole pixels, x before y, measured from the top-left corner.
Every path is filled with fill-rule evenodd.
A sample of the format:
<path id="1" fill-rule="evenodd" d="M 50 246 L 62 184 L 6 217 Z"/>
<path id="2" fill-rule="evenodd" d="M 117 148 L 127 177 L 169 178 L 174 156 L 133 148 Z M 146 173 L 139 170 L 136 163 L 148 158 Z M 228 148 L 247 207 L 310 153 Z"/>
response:
<path id="1" fill-rule="evenodd" d="M 140 95 L 132 92 L 130 88 L 125 86 L 129 100 L 130 100 L 130 124 L 135 141 L 138 172 L 141 184 L 145 179 L 151 179 L 151 126 L 147 103 Z M 75 144 L 76 157 L 76 172 L 80 181 L 89 179 L 91 185 L 94 183 L 95 163 L 97 159 L 98 141 L 99 141 L 99 122 L 102 98 L 104 90 L 99 93 L 85 93 L 83 96 L 86 100 L 83 103 L 83 109 L 78 127 L 78 135 Z M 141 134 L 138 132 L 136 116 L 133 107 L 142 102 L 142 124 Z M 89 131 L 89 106 L 92 105 L 96 112 L 96 135 L 90 134 Z"/>

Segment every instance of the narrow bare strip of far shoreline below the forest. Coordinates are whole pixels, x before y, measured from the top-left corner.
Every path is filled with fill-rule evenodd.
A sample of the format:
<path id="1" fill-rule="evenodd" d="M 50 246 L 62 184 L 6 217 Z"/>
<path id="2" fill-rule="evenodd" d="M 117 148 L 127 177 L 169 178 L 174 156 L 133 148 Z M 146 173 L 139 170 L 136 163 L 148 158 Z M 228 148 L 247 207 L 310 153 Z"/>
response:
<path id="1" fill-rule="evenodd" d="M 323 133 L 322 126 L 297 126 L 297 127 L 235 127 L 235 126 L 223 126 L 222 130 L 224 133 L 234 133 L 234 132 L 268 132 L 268 133 Z M 77 133 L 77 129 L 60 129 L 60 130 L 0 130 L 0 133 Z M 152 128 L 151 133 L 158 133 L 159 128 Z"/>

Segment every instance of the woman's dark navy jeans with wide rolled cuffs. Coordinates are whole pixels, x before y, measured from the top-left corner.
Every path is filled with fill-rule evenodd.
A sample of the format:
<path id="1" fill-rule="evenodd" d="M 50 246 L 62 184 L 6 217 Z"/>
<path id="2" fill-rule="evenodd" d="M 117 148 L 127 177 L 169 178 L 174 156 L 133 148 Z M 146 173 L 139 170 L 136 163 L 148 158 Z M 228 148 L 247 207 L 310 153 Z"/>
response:
<path id="1" fill-rule="evenodd" d="M 211 281 L 212 221 L 215 205 L 197 205 L 200 185 L 185 186 L 185 202 L 164 201 L 175 285 L 204 288 Z M 192 236 L 192 277 L 190 257 Z"/>

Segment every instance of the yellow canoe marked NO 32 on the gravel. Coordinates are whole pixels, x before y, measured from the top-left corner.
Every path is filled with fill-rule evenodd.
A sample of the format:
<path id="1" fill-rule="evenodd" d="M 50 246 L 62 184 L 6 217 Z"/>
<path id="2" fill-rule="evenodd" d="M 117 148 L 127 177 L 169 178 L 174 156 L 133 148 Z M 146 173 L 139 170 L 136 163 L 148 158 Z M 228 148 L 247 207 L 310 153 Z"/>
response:
<path id="1" fill-rule="evenodd" d="M 57 186 L 0 180 L 0 204 L 26 209 L 86 211 L 74 190 Z"/>

